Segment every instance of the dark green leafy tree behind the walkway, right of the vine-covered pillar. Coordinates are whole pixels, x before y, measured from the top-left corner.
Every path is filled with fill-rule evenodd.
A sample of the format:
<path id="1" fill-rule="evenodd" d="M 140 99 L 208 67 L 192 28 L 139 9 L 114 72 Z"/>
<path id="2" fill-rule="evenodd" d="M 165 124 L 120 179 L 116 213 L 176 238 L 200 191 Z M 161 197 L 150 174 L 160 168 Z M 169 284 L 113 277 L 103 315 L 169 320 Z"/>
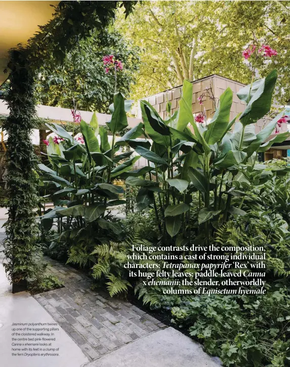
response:
<path id="1" fill-rule="evenodd" d="M 107 112 L 114 95 L 114 73 L 106 74 L 103 56 L 114 55 L 123 69 L 117 71 L 117 90 L 128 97 L 139 66 L 139 48 L 132 47 L 117 31 L 97 33 L 81 40 L 61 64 L 45 62 L 36 82 L 39 104 Z"/>

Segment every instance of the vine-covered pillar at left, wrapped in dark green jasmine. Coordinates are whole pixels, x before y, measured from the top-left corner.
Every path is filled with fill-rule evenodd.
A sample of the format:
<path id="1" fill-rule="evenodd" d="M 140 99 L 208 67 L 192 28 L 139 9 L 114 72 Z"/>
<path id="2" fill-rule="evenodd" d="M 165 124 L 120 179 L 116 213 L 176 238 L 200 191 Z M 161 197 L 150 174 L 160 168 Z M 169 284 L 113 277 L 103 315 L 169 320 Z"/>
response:
<path id="1" fill-rule="evenodd" d="M 27 280 L 34 273 L 36 256 L 36 164 L 31 134 L 35 115 L 34 72 L 28 62 L 28 51 L 10 51 L 10 85 L 7 104 L 10 115 L 5 123 L 8 133 L 7 160 L 9 189 L 9 218 L 4 242 L 6 272 L 12 281 L 13 293 L 26 290 Z"/>

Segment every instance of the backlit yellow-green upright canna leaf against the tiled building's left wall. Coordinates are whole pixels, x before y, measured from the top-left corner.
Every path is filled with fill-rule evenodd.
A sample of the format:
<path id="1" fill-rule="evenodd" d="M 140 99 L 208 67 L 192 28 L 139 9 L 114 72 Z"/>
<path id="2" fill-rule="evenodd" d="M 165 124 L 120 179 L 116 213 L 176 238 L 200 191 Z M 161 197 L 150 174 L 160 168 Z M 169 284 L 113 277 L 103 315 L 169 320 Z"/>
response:
<path id="1" fill-rule="evenodd" d="M 188 108 L 190 107 L 190 108 Z M 192 119 L 192 84 L 188 80 L 183 81 L 182 98 L 179 101 L 177 114 L 177 130 L 183 131 Z"/>

